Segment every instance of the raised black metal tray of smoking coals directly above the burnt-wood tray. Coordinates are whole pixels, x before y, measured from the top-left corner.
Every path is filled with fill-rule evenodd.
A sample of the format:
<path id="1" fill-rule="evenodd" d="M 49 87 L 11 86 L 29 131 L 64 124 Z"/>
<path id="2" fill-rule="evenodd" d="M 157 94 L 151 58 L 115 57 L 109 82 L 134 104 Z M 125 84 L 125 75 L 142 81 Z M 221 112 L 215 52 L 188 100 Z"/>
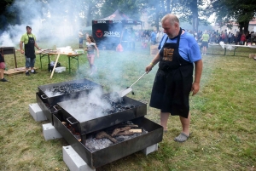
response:
<path id="1" fill-rule="evenodd" d="M 109 94 L 103 95 L 108 96 Z M 75 128 L 81 135 L 147 115 L 146 104 L 126 96 L 123 97 L 125 105 L 134 105 L 134 107 L 125 111 L 118 111 L 103 115 L 96 112 L 88 114 L 83 111 L 83 106 L 81 106 L 81 108 L 79 108 L 79 106 L 74 106 L 74 108 L 71 109 L 73 105 L 78 105 L 83 100 L 87 99 L 80 98 L 77 100 L 67 100 L 57 103 L 63 119 L 72 124 L 73 128 Z M 79 111 L 76 111 L 77 109 L 79 109 Z"/>

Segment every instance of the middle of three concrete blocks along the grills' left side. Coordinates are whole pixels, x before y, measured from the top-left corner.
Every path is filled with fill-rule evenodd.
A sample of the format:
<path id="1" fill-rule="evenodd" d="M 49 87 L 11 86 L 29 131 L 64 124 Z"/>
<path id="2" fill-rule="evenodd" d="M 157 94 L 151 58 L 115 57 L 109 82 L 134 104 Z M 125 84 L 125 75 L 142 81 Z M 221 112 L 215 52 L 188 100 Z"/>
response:
<path id="1" fill-rule="evenodd" d="M 62 138 L 62 135 L 55 129 L 55 127 L 51 123 L 43 124 L 43 134 L 45 140 Z"/>

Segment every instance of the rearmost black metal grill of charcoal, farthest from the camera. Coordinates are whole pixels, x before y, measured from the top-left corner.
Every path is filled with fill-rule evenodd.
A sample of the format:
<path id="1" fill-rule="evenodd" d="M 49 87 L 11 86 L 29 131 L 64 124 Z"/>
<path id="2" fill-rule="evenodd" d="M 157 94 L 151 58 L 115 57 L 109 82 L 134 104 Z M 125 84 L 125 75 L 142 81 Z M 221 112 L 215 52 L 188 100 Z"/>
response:
<path id="1" fill-rule="evenodd" d="M 38 86 L 36 99 L 44 115 L 49 119 L 50 123 L 53 123 L 52 113 L 58 110 L 55 106 L 58 102 L 85 97 L 96 88 L 102 90 L 101 85 L 85 78 L 62 83 L 46 84 Z"/>

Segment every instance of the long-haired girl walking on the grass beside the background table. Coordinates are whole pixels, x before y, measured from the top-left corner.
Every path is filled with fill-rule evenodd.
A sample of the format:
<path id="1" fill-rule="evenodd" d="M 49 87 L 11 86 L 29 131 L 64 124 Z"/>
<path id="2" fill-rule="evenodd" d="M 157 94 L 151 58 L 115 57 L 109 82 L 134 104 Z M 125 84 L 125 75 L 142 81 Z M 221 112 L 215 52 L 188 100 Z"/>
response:
<path id="1" fill-rule="evenodd" d="M 96 72 L 97 68 L 94 66 L 95 50 L 97 51 L 97 56 L 99 57 L 99 49 L 96 46 L 96 41 L 92 36 L 86 37 L 86 46 L 85 51 L 87 51 L 87 59 L 90 64 L 90 75 Z"/>

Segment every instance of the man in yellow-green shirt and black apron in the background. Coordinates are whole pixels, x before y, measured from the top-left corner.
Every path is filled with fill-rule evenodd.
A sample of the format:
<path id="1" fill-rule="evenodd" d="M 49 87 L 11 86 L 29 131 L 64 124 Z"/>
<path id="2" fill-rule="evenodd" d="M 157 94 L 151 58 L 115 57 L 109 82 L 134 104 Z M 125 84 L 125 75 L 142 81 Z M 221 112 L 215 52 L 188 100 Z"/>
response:
<path id="1" fill-rule="evenodd" d="M 31 68 L 31 73 L 36 74 L 37 72 L 34 70 L 34 65 L 36 61 L 36 54 L 35 54 L 35 48 L 38 48 L 40 50 L 41 48 L 38 47 L 38 44 L 36 43 L 36 36 L 32 34 L 32 27 L 26 26 L 26 33 L 22 35 L 20 38 L 20 53 L 25 54 L 26 58 L 26 76 L 29 76 L 29 68 Z M 24 43 L 24 49 L 23 50 L 23 43 Z"/>

